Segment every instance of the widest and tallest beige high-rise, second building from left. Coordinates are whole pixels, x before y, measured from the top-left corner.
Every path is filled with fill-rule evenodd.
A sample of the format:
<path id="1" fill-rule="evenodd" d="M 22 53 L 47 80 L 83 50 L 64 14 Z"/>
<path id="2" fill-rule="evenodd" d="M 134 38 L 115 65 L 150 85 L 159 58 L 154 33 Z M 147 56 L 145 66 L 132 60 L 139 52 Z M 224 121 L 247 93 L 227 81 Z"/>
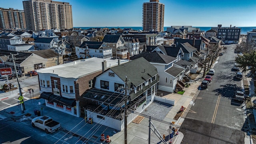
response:
<path id="1" fill-rule="evenodd" d="M 73 28 L 72 6 L 68 2 L 25 0 L 23 7 L 29 30 Z"/>

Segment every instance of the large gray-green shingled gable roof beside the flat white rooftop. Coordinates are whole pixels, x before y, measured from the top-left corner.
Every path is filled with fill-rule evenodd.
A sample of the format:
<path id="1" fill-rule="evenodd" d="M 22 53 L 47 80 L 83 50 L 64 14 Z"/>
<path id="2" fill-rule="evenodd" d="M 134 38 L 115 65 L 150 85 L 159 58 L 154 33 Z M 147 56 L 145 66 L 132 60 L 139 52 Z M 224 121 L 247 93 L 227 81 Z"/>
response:
<path id="1" fill-rule="evenodd" d="M 137 87 L 144 83 L 145 80 L 148 80 L 152 76 L 158 74 L 156 67 L 150 64 L 150 62 L 145 58 L 137 58 L 130 62 L 114 66 L 110 69 L 124 82 L 127 76 L 127 84 L 129 87 L 131 84 Z"/>

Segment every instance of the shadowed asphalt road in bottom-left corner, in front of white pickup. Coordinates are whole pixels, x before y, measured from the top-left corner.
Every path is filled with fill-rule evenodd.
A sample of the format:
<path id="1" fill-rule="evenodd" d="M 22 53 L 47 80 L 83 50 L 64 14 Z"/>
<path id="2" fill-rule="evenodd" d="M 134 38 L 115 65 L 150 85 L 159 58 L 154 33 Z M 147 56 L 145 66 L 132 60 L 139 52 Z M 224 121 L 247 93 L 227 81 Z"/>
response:
<path id="1" fill-rule="evenodd" d="M 30 118 L 30 117 L 28 117 Z M 0 118 L 0 143 L 12 144 L 82 144 L 84 139 L 60 129 L 46 134 L 44 130 L 33 128 L 31 118 Z M 88 144 L 92 144 L 89 142 Z"/>

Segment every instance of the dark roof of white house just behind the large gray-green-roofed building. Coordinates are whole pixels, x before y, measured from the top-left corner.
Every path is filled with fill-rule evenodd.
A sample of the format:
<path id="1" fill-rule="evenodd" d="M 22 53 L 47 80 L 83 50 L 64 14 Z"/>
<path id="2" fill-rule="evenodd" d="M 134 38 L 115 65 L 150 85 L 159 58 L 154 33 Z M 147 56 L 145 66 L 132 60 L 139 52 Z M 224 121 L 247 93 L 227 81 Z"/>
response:
<path id="1" fill-rule="evenodd" d="M 173 62 L 177 59 L 172 56 L 159 54 L 157 52 L 142 52 L 140 54 L 136 54 L 130 57 L 130 60 L 135 60 L 141 57 L 145 58 L 148 62 L 161 63 L 161 64 L 169 64 L 170 62 Z"/>

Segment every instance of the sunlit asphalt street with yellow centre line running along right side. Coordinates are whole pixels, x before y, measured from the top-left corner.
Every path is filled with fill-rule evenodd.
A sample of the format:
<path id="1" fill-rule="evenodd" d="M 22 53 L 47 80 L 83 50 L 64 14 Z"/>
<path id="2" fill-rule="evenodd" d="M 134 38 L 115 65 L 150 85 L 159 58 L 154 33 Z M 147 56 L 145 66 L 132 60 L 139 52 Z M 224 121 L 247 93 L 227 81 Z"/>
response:
<path id="1" fill-rule="evenodd" d="M 214 66 L 213 80 L 200 90 L 180 128 L 182 144 L 238 144 L 244 143 L 244 103 L 235 101 L 235 90 L 241 82 L 234 79 L 235 45 L 226 45 L 223 56 Z"/>

